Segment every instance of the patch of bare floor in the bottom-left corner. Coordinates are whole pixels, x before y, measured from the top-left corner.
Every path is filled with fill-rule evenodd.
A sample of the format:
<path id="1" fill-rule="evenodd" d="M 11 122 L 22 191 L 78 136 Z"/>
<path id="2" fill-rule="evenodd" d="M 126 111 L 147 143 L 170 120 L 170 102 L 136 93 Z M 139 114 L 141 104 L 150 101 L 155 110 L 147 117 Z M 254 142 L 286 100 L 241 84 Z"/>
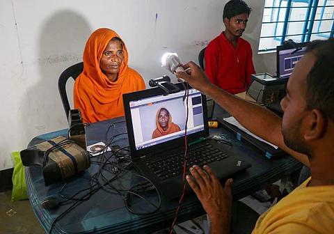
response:
<path id="1" fill-rule="evenodd" d="M 10 201 L 11 194 L 11 190 L 0 192 L 0 233 L 45 233 L 29 200 Z"/>

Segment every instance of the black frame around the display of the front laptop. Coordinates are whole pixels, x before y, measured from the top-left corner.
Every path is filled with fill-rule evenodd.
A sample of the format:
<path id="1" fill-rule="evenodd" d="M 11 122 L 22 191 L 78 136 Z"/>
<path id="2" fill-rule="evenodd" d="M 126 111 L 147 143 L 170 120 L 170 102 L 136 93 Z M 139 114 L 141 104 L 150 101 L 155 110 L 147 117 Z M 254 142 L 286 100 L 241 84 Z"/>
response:
<path id="1" fill-rule="evenodd" d="M 182 86 L 181 83 L 175 84 L 175 85 L 178 86 L 181 91 L 184 91 L 184 87 Z M 191 88 L 191 86 L 189 86 L 189 88 Z M 133 93 L 123 94 L 123 105 L 124 105 L 125 119 L 126 119 L 126 125 L 127 125 L 127 136 L 129 139 L 129 148 L 130 148 L 132 160 L 138 159 L 138 157 L 142 157 L 144 155 L 150 155 L 152 153 L 159 153 L 161 151 L 166 151 L 168 149 L 184 146 L 184 137 L 181 137 L 179 139 L 173 139 L 171 141 L 167 141 L 159 145 L 150 146 L 148 148 L 142 148 L 140 150 L 136 150 L 133 125 L 132 125 L 132 115 L 131 115 L 131 109 L 129 106 L 129 102 L 140 100 L 143 98 L 152 98 L 157 95 L 164 95 L 164 91 L 161 88 L 150 88 L 150 89 L 145 89 L 143 91 L 136 91 Z M 203 117 L 204 117 L 204 130 L 187 135 L 186 139 L 188 142 L 196 140 L 200 137 L 209 137 L 209 125 L 207 122 L 207 99 L 205 95 L 203 95 L 202 93 L 201 93 L 201 99 L 202 99 L 202 111 L 203 111 Z M 161 147 L 161 145 L 164 147 Z"/>

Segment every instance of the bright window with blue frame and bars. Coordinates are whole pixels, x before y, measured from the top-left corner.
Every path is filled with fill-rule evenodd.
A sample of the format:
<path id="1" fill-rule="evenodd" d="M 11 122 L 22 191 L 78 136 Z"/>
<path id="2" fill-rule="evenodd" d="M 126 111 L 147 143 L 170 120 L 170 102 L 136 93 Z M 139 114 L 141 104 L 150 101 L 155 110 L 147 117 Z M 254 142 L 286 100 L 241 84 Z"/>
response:
<path id="1" fill-rule="evenodd" d="M 276 49 L 283 41 L 333 37 L 334 0 L 266 0 L 259 51 Z"/>

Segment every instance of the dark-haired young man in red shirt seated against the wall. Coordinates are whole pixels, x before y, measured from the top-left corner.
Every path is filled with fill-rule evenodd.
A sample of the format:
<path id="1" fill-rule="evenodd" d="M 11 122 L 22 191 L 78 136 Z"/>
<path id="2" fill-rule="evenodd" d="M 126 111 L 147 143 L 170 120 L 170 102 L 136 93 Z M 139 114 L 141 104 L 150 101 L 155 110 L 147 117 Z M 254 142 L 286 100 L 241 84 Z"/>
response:
<path id="1" fill-rule="evenodd" d="M 249 42 L 240 38 L 246 29 L 251 8 L 244 1 L 231 0 L 223 13 L 225 31 L 209 42 L 205 49 L 205 73 L 219 88 L 242 93 L 255 74 L 253 52 Z"/>

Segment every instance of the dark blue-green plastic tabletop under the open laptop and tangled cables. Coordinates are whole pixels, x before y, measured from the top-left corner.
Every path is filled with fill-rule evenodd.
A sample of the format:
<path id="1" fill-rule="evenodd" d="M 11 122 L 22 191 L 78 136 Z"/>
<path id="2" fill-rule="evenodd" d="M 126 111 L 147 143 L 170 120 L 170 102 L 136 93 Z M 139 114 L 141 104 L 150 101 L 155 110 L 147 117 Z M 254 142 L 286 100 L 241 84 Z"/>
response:
<path id="1" fill-rule="evenodd" d="M 106 130 L 113 123 L 116 123 L 116 128 L 113 129 L 112 127 L 112 130 L 109 130 L 106 136 Z M 87 143 L 90 145 L 105 141 L 106 137 L 109 139 L 112 135 L 125 132 L 125 118 L 122 117 L 93 123 L 86 127 Z M 44 134 L 35 137 L 29 143 L 29 146 L 66 134 L 67 130 Z M 257 150 L 248 143 L 238 141 L 234 138 L 232 132 L 228 132 L 228 130 L 224 130 L 223 128 L 210 129 L 210 134 L 221 134 L 221 136 L 233 144 L 232 150 L 234 153 L 253 164 L 249 169 L 232 176 L 234 179 L 232 184 L 234 200 L 257 192 L 283 176 L 301 169 L 302 164 L 289 155 L 279 159 L 267 159 L 267 157 L 262 155 L 260 150 Z M 127 135 L 120 137 L 124 138 Z M 117 144 L 121 147 L 127 146 L 128 141 L 125 139 L 119 141 Z M 84 175 L 72 178 L 67 183 L 63 193 L 67 194 L 67 196 L 72 196 L 79 190 L 88 187 L 89 180 L 87 178 L 93 175 L 97 171 L 97 168 L 96 164 L 92 164 Z M 60 198 L 58 192 L 64 183 L 57 182 L 54 185 L 45 187 L 42 178 L 42 169 L 37 167 L 26 167 L 25 176 L 26 187 L 33 211 L 43 228 L 49 232 L 52 221 L 71 204 L 61 205 L 55 210 L 44 210 L 40 207 L 40 202 L 49 196 Z M 127 173 L 120 180 L 125 187 L 131 187 L 141 181 L 141 178 Z M 117 182 L 115 185 L 117 185 Z M 157 204 L 158 198 L 156 193 L 146 192 L 145 197 Z M 162 212 L 158 211 L 147 216 L 138 216 L 127 211 L 120 195 L 100 189 L 88 201 L 82 202 L 77 208 L 74 208 L 65 217 L 57 221 L 52 233 L 152 233 L 170 226 L 175 216 L 178 201 L 167 201 L 163 196 L 161 198 Z M 132 201 L 132 208 L 136 210 L 150 210 L 147 203 L 138 199 Z M 189 194 L 182 201 L 177 222 L 193 219 L 202 214 L 205 214 L 205 210 L 203 210 L 196 195 Z"/>

